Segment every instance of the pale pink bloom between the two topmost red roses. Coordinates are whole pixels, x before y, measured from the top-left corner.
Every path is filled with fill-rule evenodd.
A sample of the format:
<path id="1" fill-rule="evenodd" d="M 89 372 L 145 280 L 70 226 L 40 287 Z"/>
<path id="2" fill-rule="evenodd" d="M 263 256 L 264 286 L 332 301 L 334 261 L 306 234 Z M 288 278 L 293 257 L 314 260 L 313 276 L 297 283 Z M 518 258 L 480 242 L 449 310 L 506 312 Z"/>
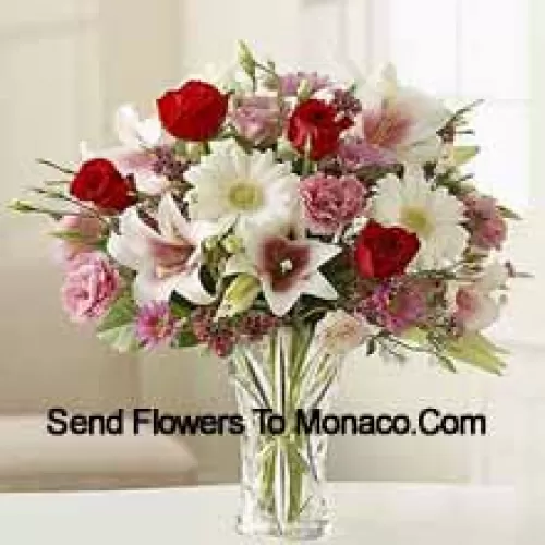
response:
<path id="1" fill-rule="evenodd" d="M 274 143 L 283 131 L 283 113 L 276 97 L 239 98 L 231 120 L 240 134 L 257 146 Z"/>

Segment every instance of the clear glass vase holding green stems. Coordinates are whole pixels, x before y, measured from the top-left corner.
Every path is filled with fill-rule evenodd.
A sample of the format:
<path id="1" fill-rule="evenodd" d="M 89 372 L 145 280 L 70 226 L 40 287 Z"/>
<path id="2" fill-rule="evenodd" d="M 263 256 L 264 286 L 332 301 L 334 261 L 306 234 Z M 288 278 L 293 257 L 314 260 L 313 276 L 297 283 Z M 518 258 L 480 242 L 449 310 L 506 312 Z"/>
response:
<path id="1" fill-rule="evenodd" d="M 230 379 L 245 424 L 241 534 L 312 540 L 328 531 L 327 435 L 316 424 L 328 411 L 339 366 L 340 358 L 319 350 L 306 325 L 234 350 Z"/>

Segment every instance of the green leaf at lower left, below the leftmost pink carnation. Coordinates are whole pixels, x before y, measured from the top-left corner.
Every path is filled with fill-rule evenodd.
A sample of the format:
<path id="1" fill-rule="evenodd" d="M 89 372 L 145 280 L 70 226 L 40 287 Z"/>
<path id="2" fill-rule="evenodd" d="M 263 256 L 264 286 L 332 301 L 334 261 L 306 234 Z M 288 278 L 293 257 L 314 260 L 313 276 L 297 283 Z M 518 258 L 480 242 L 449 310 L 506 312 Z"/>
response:
<path id="1" fill-rule="evenodd" d="M 136 305 L 129 293 L 123 293 L 97 327 L 97 336 L 119 352 L 130 352 L 138 348 L 134 335 Z"/>

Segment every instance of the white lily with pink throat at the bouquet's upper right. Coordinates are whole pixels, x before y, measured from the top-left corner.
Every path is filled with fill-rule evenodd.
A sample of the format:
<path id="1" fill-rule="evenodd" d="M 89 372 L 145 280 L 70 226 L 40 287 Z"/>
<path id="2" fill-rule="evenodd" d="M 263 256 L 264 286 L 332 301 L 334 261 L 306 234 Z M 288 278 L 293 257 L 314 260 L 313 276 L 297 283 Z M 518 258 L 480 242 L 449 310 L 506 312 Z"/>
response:
<path id="1" fill-rule="evenodd" d="M 440 100 L 399 84 L 393 66 L 363 89 L 360 118 L 365 142 L 399 162 L 423 165 L 440 155 L 437 135 L 451 113 Z"/>

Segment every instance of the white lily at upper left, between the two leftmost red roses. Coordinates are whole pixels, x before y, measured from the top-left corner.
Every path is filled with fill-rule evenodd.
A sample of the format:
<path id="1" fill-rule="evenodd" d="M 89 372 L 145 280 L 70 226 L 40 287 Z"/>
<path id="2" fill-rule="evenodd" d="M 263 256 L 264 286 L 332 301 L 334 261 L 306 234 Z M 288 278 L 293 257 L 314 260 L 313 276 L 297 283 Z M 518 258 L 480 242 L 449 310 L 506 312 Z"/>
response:
<path id="1" fill-rule="evenodd" d="M 155 160 L 149 152 L 165 143 L 161 124 L 157 117 L 141 120 L 130 105 L 121 106 L 116 112 L 114 131 L 121 146 L 95 152 L 82 142 L 80 153 L 83 160 L 104 157 L 111 160 L 123 175 L 132 174 L 136 189 L 149 195 L 161 194 L 168 186 L 168 180 L 153 170 Z"/>

